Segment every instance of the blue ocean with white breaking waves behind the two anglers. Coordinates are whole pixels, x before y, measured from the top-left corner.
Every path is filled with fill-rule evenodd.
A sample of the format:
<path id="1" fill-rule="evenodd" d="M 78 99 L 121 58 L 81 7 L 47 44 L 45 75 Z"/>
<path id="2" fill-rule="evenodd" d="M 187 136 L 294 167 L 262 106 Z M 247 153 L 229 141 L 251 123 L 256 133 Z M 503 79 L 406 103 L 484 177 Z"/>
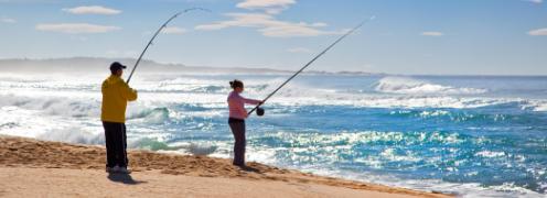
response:
<path id="1" fill-rule="evenodd" d="M 106 77 L 2 73 L 0 133 L 104 144 Z M 137 73 L 129 147 L 230 157 L 228 81 L 262 99 L 288 77 Z M 547 195 L 547 77 L 307 74 L 264 108 L 247 120 L 247 161 L 461 197 Z"/>

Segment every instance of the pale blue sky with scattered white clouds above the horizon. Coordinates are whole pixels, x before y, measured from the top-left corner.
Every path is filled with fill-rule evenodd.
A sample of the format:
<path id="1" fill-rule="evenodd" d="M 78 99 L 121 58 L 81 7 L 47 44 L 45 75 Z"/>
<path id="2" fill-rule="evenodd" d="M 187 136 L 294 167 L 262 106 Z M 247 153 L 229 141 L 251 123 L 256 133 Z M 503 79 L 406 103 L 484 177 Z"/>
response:
<path id="1" fill-rule="evenodd" d="M 0 58 L 132 57 L 191 66 L 547 75 L 543 0 L 0 0 Z M 131 65 L 133 63 L 125 63 Z"/>

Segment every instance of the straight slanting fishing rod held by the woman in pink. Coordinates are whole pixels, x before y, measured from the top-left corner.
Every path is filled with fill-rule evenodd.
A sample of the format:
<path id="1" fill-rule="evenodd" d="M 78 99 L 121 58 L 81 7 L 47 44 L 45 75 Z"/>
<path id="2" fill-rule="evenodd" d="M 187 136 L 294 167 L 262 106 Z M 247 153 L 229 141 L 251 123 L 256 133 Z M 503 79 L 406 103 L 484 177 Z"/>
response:
<path id="1" fill-rule="evenodd" d="M 323 52 L 319 53 L 315 57 L 313 57 L 313 59 L 311 59 L 310 62 L 308 62 L 308 64 L 305 64 L 302 68 L 300 68 L 300 70 L 298 70 L 297 73 L 294 73 L 289 79 L 287 79 L 283 84 L 281 84 L 276 90 L 274 90 L 270 95 L 268 95 L 268 97 L 266 97 L 261 103 L 257 105 L 255 108 L 253 108 L 247 114 L 251 114 L 255 110 L 257 111 L 257 114 L 258 116 L 262 116 L 264 114 L 264 109 L 260 108 L 261 105 L 264 105 L 268 99 L 270 99 L 270 97 L 272 97 L 277 91 L 279 91 L 279 89 L 281 89 L 285 85 L 287 85 L 290 80 L 292 80 L 292 78 L 297 77 L 300 73 L 302 73 L 302 70 L 304 70 L 308 66 L 310 66 L 313 62 L 315 62 L 319 57 L 321 57 L 323 54 L 325 54 L 329 50 L 331 50 L 334 45 L 336 45 L 340 41 L 344 40 L 344 37 L 348 36 L 350 34 L 352 34 L 353 32 L 355 32 L 357 29 L 360 29 L 361 26 L 363 26 L 366 22 L 368 21 L 372 21 L 374 20 L 376 16 L 372 16 L 369 19 L 366 19 L 364 21 L 362 21 L 357 26 L 353 28 L 352 30 L 347 31 L 344 35 L 340 36 L 334 43 L 332 43 L 331 45 L 329 45 L 329 47 L 326 47 Z"/>

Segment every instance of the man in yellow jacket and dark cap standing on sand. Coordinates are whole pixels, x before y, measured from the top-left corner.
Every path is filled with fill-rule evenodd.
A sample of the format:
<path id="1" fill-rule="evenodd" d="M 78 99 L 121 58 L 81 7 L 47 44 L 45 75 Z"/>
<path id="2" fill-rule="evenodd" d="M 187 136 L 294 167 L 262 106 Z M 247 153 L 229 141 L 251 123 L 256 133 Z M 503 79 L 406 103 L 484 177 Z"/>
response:
<path id="1" fill-rule="evenodd" d="M 126 66 L 118 62 L 110 65 L 111 75 L 103 81 L 103 107 L 100 120 L 105 128 L 106 170 L 129 174 L 127 168 L 126 108 L 128 101 L 137 100 L 137 91 L 121 79 Z"/>

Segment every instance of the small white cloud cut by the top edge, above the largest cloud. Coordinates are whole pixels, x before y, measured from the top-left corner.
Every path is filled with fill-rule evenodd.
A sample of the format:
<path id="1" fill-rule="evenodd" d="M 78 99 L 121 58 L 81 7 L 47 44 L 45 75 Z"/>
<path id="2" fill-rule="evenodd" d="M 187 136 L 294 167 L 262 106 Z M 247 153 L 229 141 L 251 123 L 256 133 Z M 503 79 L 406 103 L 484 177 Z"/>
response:
<path id="1" fill-rule="evenodd" d="M 297 3 L 296 0 L 245 0 L 237 3 L 237 8 L 247 10 L 265 10 L 268 14 L 278 14 L 289 6 Z"/>

